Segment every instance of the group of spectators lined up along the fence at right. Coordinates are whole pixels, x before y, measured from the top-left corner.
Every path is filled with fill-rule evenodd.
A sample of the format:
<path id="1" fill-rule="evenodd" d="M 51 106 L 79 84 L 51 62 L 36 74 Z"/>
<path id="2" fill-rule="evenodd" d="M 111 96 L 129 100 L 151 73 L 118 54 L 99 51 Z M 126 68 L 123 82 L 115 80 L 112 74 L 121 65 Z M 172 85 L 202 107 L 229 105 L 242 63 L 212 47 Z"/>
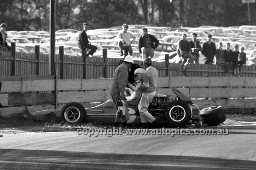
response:
<path id="1" fill-rule="evenodd" d="M 234 75 L 242 76 L 241 67 L 246 64 L 246 53 L 244 53 L 245 47 L 238 46 L 233 47 L 230 43 L 227 43 L 223 47 L 222 42 L 219 42 L 218 47 L 212 42 L 212 35 L 207 36 L 207 41 L 201 46 L 200 41 L 197 40 L 197 34 L 193 33 L 193 39 L 191 41 L 186 40 L 186 35 L 183 34 L 178 41 L 177 54 L 179 55 L 182 67 L 185 69 L 187 64 L 198 64 L 199 52 L 204 56 L 204 64 L 218 64 L 224 69 L 225 74 L 228 74 L 230 70 Z M 256 44 L 255 50 L 252 50 L 248 56 L 250 61 L 249 65 L 256 64 Z"/>

